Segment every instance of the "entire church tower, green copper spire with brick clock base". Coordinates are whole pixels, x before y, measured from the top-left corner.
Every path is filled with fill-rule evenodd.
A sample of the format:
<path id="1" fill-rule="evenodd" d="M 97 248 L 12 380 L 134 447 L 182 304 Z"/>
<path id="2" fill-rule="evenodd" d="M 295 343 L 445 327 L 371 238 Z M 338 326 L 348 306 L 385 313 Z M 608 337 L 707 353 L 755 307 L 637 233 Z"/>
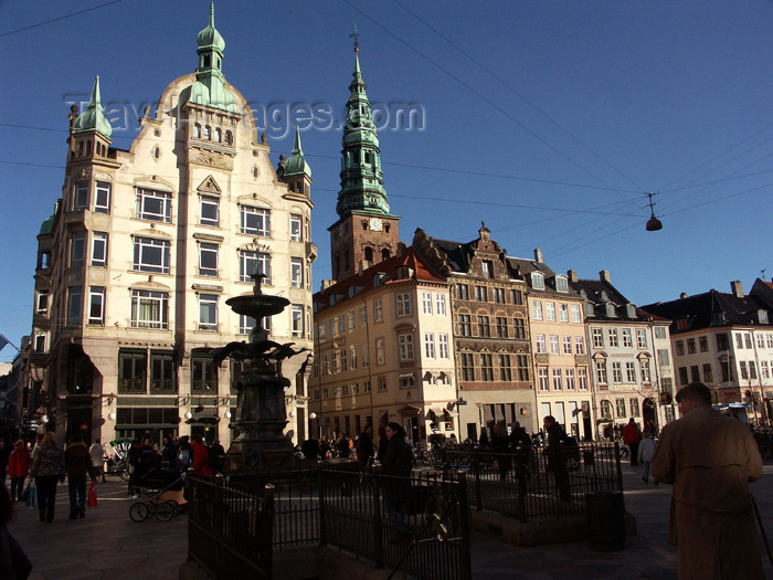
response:
<path id="1" fill-rule="evenodd" d="M 328 229 L 336 281 L 394 255 L 400 241 L 400 218 L 389 212 L 379 137 L 357 45 L 352 77 L 341 138 L 341 190 L 336 204 L 339 220 Z"/>

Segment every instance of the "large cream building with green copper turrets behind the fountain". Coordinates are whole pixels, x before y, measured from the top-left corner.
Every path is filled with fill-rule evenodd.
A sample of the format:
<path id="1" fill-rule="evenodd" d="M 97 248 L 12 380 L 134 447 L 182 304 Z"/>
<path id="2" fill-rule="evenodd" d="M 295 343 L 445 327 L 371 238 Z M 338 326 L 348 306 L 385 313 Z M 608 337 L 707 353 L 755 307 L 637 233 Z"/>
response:
<path id="1" fill-rule="evenodd" d="M 290 300 L 271 337 L 313 346 L 316 249 L 299 140 L 292 170 L 275 170 L 246 99 L 223 76 L 213 8 L 197 42 L 195 73 L 146 110 L 129 150 L 112 145 L 98 77 L 88 108 L 71 114 L 62 199 L 41 228 L 35 271 L 32 377 L 46 397 L 35 393 L 29 410 L 50 414 L 60 435 L 229 442 L 232 369 L 215 368 L 210 351 L 254 326 L 225 300 L 251 293 L 255 271 L 266 293 Z M 304 361 L 284 366 L 289 411 L 305 404 Z M 288 430 L 300 437 L 306 425 Z"/>

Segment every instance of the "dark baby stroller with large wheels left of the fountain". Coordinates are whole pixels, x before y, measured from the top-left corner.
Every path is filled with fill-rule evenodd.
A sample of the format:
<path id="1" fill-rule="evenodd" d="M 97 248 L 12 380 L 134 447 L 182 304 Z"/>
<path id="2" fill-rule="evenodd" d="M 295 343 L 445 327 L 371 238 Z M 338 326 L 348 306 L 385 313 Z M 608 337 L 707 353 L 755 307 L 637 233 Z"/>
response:
<path id="1" fill-rule="evenodd" d="M 186 504 L 182 477 L 178 472 L 161 470 L 160 464 L 145 467 L 136 474 L 135 486 L 141 498 L 129 506 L 129 517 L 134 521 L 150 517 L 169 521 Z"/>

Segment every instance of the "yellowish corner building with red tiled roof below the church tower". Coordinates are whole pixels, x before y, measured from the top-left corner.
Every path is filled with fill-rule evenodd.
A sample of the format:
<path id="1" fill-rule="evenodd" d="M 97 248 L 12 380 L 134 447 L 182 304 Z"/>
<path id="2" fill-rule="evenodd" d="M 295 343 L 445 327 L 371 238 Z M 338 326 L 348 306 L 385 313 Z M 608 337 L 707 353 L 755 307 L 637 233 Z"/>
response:
<path id="1" fill-rule="evenodd" d="M 395 421 L 414 443 L 458 436 L 448 285 L 413 249 L 314 295 L 313 429 Z"/>

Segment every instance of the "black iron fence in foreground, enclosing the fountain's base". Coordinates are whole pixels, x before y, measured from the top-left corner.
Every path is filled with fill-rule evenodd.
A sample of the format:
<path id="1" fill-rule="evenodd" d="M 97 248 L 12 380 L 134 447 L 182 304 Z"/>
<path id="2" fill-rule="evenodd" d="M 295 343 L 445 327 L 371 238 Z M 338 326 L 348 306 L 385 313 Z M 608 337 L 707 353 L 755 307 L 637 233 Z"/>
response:
<path id="1" fill-rule="evenodd" d="M 232 552 L 231 570 L 271 578 L 272 550 L 290 546 L 333 547 L 413 578 L 472 577 L 464 474 L 399 477 L 354 463 L 190 485 L 189 553 L 215 579 L 247 576 L 226 571 Z"/>

